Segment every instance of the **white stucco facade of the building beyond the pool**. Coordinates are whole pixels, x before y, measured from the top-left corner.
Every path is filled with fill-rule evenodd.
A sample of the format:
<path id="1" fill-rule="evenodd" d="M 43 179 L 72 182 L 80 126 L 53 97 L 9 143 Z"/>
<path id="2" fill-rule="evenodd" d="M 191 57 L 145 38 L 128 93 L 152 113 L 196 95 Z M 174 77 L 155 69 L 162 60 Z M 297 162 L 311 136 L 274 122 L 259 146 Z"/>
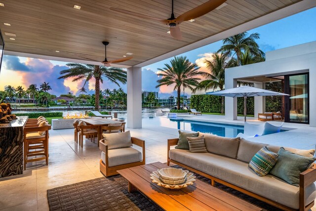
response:
<path id="1" fill-rule="evenodd" d="M 316 42 L 270 51 L 266 53 L 266 56 L 267 60 L 265 62 L 226 69 L 225 88 L 236 87 L 237 80 L 241 78 L 309 72 L 310 126 L 316 127 L 316 116 L 314 115 L 316 114 Z M 229 97 L 226 97 L 225 100 L 225 118 L 227 120 L 236 120 L 237 100 Z M 260 112 L 259 109 L 256 111 Z"/>

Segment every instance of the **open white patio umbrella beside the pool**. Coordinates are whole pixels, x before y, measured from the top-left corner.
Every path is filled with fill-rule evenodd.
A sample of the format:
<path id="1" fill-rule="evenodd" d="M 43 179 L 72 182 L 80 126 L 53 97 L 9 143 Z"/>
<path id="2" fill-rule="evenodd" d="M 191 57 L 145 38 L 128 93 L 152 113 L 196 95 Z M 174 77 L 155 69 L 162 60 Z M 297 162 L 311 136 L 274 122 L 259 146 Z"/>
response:
<path id="1" fill-rule="evenodd" d="M 243 99 L 244 99 L 243 114 L 244 114 L 244 121 L 245 122 L 246 122 L 246 114 L 247 114 L 247 107 L 246 107 L 247 97 L 289 95 L 289 94 L 284 94 L 284 93 L 270 91 L 270 90 L 261 89 L 261 88 L 255 88 L 255 87 L 246 86 L 246 85 L 239 86 L 236 88 L 225 89 L 222 91 L 207 92 L 206 94 L 225 96 L 225 97 L 243 97 Z"/>

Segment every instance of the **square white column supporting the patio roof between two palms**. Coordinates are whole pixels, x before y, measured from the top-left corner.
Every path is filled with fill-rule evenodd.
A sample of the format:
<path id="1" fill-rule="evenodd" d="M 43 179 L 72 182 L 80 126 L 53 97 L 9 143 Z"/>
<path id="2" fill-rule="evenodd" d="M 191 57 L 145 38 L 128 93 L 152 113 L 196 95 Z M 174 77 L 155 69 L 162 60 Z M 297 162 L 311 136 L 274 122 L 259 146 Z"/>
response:
<path id="1" fill-rule="evenodd" d="M 142 68 L 127 68 L 127 127 L 142 128 Z"/>

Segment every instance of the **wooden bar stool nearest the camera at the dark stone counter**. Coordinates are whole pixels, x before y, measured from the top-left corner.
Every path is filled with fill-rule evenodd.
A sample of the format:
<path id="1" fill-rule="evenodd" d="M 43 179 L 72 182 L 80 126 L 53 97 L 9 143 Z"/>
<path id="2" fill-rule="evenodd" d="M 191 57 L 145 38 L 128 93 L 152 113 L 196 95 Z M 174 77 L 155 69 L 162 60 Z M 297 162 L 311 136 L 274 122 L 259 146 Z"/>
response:
<path id="1" fill-rule="evenodd" d="M 48 165 L 48 130 L 50 129 L 51 125 L 47 122 L 42 122 L 39 126 L 24 127 L 24 170 L 26 164 L 30 162 L 45 160 L 46 166 Z"/>

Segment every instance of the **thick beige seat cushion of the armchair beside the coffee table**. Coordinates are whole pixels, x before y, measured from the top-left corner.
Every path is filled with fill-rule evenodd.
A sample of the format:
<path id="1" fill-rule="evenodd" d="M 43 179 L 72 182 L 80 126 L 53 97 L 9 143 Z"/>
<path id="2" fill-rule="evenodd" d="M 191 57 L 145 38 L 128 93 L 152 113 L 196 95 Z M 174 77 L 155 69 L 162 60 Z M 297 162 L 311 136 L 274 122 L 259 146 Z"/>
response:
<path id="1" fill-rule="evenodd" d="M 109 152 L 109 167 L 123 164 L 131 164 L 142 161 L 142 153 L 132 147 L 111 149 Z M 102 152 L 101 159 L 105 163 L 105 153 Z"/>

